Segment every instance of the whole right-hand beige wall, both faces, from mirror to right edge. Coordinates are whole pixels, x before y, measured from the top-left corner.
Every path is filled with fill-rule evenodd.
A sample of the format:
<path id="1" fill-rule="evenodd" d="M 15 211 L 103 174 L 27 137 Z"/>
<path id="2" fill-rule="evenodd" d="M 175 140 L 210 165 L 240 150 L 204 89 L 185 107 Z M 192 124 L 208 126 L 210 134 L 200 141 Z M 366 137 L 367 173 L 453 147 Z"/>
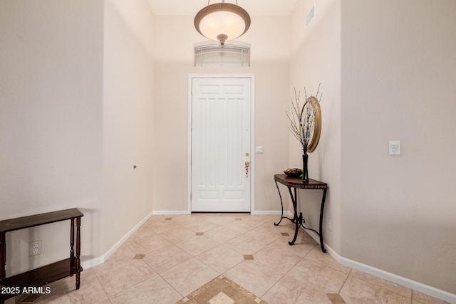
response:
<path id="1" fill-rule="evenodd" d="M 351 266 L 449 293 L 456 293 L 454 16 L 454 1 L 298 1 L 289 89 L 315 93 L 321 83 L 323 127 L 309 173 L 330 187 L 326 243 Z M 388 155 L 389 140 L 401 141 L 402 155 Z M 290 136 L 290 164 L 300 162 Z M 316 225 L 312 195 L 300 206 Z"/>

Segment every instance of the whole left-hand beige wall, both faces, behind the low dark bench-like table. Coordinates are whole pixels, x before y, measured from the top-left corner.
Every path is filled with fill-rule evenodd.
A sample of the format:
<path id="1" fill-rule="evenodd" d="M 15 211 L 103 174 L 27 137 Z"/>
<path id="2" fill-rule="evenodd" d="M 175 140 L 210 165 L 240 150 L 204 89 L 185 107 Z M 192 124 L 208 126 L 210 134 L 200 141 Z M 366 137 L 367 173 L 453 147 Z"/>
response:
<path id="1" fill-rule="evenodd" d="M 0 28 L 0 219 L 77 207 L 81 258 L 100 263 L 152 212 L 152 12 L 1 1 Z M 6 236 L 7 276 L 68 257 L 69 223 Z"/>

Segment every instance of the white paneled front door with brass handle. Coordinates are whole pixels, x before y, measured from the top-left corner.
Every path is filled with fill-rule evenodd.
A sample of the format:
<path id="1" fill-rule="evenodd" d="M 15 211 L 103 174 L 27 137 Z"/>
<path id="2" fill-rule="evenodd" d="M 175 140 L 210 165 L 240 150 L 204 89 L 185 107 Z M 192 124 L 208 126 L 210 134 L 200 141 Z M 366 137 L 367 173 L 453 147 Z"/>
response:
<path id="1" fill-rule="evenodd" d="M 192 78 L 192 211 L 250 211 L 251 83 Z"/>

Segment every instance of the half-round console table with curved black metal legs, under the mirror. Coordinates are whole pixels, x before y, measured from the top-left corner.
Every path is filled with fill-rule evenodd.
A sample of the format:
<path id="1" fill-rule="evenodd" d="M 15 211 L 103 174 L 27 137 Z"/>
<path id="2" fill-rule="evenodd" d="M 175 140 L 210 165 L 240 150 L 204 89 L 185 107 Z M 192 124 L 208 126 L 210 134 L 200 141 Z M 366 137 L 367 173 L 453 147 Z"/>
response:
<path id="1" fill-rule="evenodd" d="M 279 197 L 280 197 L 280 204 L 282 206 L 282 215 L 281 215 L 280 221 L 279 221 L 279 223 L 274 223 L 274 225 L 276 225 L 276 226 L 279 225 L 280 222 L 282 221 L 282 219 L 289 219 L 294 224 L 296 224 L 296 228 L 294 231 L 294 238 L 293 238 L 293 241 L 289 242 L 290 245 L 293 245 L 294 242 L 296 241 L 296 237 L 298 236 L 298 230 L 299 230 L 300 226 L 304 229 L 314 231 L 316 234 L 318 234 L 318 236 L 320 236 L 321 251 L 326 252 L 325 246 L 323 244 L 323 210 L 325 208 L 326 190 L 328 190 L 328 184 L 323 183 L 323 182 L 318 182 L 315 179 L 309 179 L 309 182 L 303 182 L 301 177 L 287 177 L 286 174 L 275 174 L 274 182 L 276 182 L 277 191 L 279 192 Z M 279 184 L 277 184 L 277 182 L 279 182 L 280 184 L 284 184 L 288 188 L 288 191 L 291 196 L 291 201 L 293 202 L 293 208 L 294 208 L 293 219 L 290 219 L 289 217 L 284 216 L 284 203 L 282 202 L 282 196 L 280 194 Z M 293 192 L 291 192 L 291 188 L 294 189 L 294 194 L 293 194 Z M 302 212 L 299 212 L 299 216 L 298 216 L 296 189 L 321 189 L 321 190 L 323 190 L 323 198 L 321 199 L 321 207 L 320 207 L 320 226 L 319 226 L 318 231 L 304 226 L 304 223 L 306 221 L 302 217 Z"/>

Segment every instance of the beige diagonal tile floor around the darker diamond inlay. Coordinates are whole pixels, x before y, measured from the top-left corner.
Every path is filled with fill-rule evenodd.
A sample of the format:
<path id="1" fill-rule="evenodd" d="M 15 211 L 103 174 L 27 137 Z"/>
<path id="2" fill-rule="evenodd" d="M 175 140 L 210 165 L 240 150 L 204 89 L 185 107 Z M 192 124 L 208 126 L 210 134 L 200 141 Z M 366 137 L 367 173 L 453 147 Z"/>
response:
<path id="1" fill-rule="evenodd" d="M 445 303 L 337 263 L 279 216 L 152 216 L 105 263 L 6 303 L 172 304 L 223 275 L 270 304 Z M 23 302 L 21 302 L 21 300 Z"/>

